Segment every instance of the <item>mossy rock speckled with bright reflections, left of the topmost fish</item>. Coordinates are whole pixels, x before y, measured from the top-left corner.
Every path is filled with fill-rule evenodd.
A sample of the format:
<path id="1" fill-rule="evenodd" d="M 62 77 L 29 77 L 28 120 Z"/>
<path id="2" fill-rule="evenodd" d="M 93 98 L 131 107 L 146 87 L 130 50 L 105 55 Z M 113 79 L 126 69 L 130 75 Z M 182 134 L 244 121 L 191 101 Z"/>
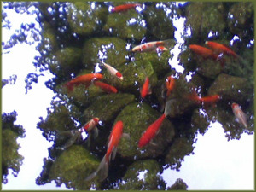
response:
<path id="1" fill-rule="evenodd" d="M 90 35 L 101 32 L 106 21 L 108 9 L 101 4 L 91 2 L 68 3 L 67 22 L 73 32 L 80 35 Z"/>

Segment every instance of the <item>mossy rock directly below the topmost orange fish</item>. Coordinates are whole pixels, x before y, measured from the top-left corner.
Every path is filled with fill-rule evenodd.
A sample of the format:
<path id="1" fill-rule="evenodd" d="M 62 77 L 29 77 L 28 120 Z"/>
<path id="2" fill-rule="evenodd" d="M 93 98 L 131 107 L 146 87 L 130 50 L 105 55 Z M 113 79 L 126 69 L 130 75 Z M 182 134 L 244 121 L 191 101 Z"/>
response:
<path id="1" fill-rule="evenodd" d="M 141 40 L 147 31 L 143 15 L 135 9 L 108 15 L 103 31 L 118 38 Z"/>

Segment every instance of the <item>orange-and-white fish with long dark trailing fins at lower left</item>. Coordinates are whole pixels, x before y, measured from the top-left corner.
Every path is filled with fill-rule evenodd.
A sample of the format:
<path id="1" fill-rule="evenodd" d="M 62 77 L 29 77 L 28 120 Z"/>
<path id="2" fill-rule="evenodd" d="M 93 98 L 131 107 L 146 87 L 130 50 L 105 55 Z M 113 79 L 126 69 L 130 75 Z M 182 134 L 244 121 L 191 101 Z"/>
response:
<path id="1" fill-rule="evenodd" d="M 70 139 L 65 143 L 63 146 L 58 147 L 57 149 L 65 149 L 73 145 L 73 143 L 79 141 L 81 139 L 81 132 L 86 131 L 88 134 L 87 137 L 87 143 L 90 145 L 90 135 L 91 131 L 95 131 L 94 137 L 98 136 L 98 129 L 96 125 L 99 123 L 99 118 L 93 118 L 90 119 L 86 124 L 83 125 L 82 128 L 78 130 L 72 130 L 72 131 L 62 131 L 61 135 L 71 135 Z"/>

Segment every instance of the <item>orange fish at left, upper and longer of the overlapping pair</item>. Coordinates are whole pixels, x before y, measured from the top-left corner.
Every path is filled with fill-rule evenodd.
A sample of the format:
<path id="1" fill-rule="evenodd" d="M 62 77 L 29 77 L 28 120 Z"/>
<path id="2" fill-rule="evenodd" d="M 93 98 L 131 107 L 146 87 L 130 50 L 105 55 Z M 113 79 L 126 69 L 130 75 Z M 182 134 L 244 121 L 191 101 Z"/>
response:
<path id="1" fill-rule="evenodd" d="M 89 73 L 80 75 L 65 84 L 67 86 L 67 90 L 73 91 L 73 86 L 77 86 L 79 84 L 85 84 L 89 86 L 93 80 L 102 79 L 103 75 L 101 73 Z"/>

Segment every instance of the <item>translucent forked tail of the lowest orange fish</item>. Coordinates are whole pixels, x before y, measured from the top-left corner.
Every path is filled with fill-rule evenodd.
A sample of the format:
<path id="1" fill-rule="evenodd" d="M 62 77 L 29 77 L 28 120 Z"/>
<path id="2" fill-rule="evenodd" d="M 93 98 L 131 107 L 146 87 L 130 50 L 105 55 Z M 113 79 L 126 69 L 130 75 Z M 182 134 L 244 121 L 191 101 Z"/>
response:
<path id="1" fill-rule="evenodd" d="M 99 175 L 100 181 L 103 181 L 105 178 L 108 177 L 108 166 L 109 166 L 109 158 L 105 155 L 98 166 L 97 170 L 93 173 L 91 173 L 88 177 L 85 178 L 85 181 L 90 181 L 96 175 Z"/>

